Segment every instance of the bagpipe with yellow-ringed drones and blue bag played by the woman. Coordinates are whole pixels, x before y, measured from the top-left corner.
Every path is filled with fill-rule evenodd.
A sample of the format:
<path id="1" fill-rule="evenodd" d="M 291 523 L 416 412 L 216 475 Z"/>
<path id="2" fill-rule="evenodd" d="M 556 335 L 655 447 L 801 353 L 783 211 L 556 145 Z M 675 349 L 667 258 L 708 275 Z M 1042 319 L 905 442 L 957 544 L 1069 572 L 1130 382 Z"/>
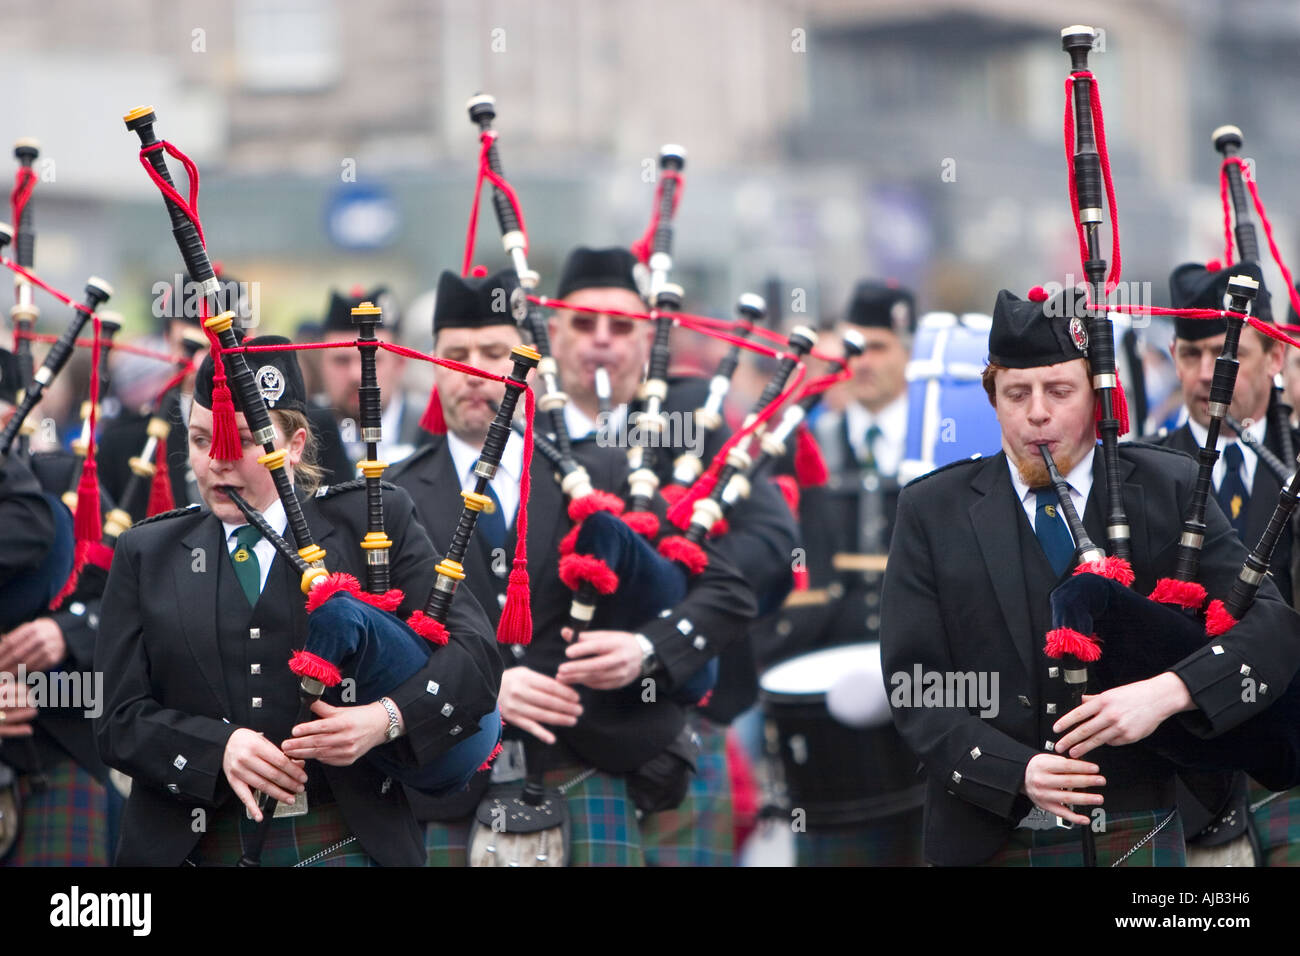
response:
<path id="1" fill-rule="evenodd" d="M 202 225 L 195 204 L 198 193 L 198 170 L 192 163 L 174 146 L 159 140 L 153 133 L 156 121 L 155 113 L 148 107 L 142 107 L 126 114 L 125 122 L 129 130 L 136 133 L 140 139 L 140 161 L 150 172 L 151 178 L 164 195 L 169 216 L 173 224 L 173 233 L 188 274 L 200 286 L 202 315 L 207 316 L 209 304 L 216 299 L 218 284 L 212 265 L 208 260 L 205 242 L 203 239 Z M 170 172 L 162 157 L 162 151 L 179 159 L 190 174 L 190 198 L 182 198 L 172 182 Z M 458 522 L 451 546 L 442 562 L 437 566 L 437 578 L 429 591 L 428 600 L 421 610 L 413 611 L 407 620 L 399 620 L 393 611 L 404 600 L 400 591 L 389 589 L 387 584 L 387 550 L 391 542 L 384 531 L 384 498 L 381 475 L 385 463 L 378 460 L 377 445 L 382 438 L 378 381 L 374 373 L 374 350 L 387 347 L 400 354 L 419 355 L 400 346 L 380 343 L 374 337 L 374 328 L 382 320 L 380 310 L 370 303 L 363 303 L 352 311 L 352 320 L 359 328 L 356 347 L 361 351 L 363 360 L 363 392 L 361 406 L 361 434 L 367 447 L 367 459 L 359 463 L 359 468 L 365 476 L 367 485 L 367 533 L 360 542 L 367 554 L 367 589 L 348 574 L 330 574 L 325 564 L 326 554 L 312 538 L 307 520 L 303 515 L 298 493 L 286 471 L 287 450 L 276 447 L 276 429 L 270 419 L 266 401 L 264 399 L 255 375 L 250 368 L 244 352 L 246 350 L 274 350 L 296 346 L 240 345 L 234 330 L 234 313 L 224 312 L 213 317 L 204 319 L 204 329 L 211 342 L 211 358 L 213 362 L 213 441 L 209 455 L 225 460 L 234 460 L 242 457 L 238 429 L 234 419 L 234 403 L 231 389 L 239 395 L 240 408 L 247 419 L 254 442 L 263 446 L 264 454 L 259 462 L 268 468 L 276 486 L 277 496 L 285 507 L 287 528 L 294 544 L 290 545 L 282 536 L 256 515 L 247 502 L 240 503 L 237 496 L 231 496 L 237 506 L 244 511 L 251 524 L 259 527 L 263 535 L 277 548 L 278 553 L 289 561 L 302 576 L 302 591 L 307 597 L 308 633 L 304 646 L 295 652 L 289 662 L 290 671 L 299 679 L 299 721 L 311 719 L 311 705 L 321 695 L 339 685 L 344 678 L 356 682 L 359 704 L 368 704 L 378 700 L 385 693 L 395 689 L 402 682 L 413 676 L 437 653 L 439 645 L 448 641 L 447 613 L 451 607 L 456 585 L 464 579 L 462 559 L 469 536 L 473 533 L 477 515 L 490 502 L 482 494 L 484 486 L 490 481 L 500 460 L 508 436 L 508 421 L 515 412 L 520 395 L 526 397 L 529 419 L 533 411 L 532 392 L 528 389 L 526 376 L 537 367 L 538 354 L 528 347 L 519 346 L 514 350 L 514 369 L 510 376 L 491 376 L 471 367 L 460 367 L 464 371 L 482 375 L 506 384 L 506 394 L 497 418 L 490 429 L 484 453 L 476 466 L 480 486 L 476 492 L 463 493 L 464 503 L 460 520 Z M 342 343 L 352 347 L 352 343 Z M 426 356 L 421 356 L 426 358 Z M 526 457 L 530 454 L 525 440 L 525 468 Z M 521 510 L 526 507 L 526 490 L 521 489 Z M 523 540 L 523 532 L 521 532 Z M 526 643 L 530 626 L 528 622 L 526 605 L 526 568 L 516 568 L 521 575 L 523 606 L 516 610 L 515 617 L 521 618 L 525 628 L 521 640 Z M 512 591 L 516 589 L 516 580 L 512 576 Z M 382 591 L 380 591 L 384 588 Z M 506 618 L 503 615 L 503 626 Z M 502 632 L 504 635 L 504 631 Z M 503 636 L 504 639 L 504 636 Z M 455 744 L 450 750 L 429 761 L 424 766 L 411 767 L 396 761 L 384 748 L 372 749 L 367 760 L 393 779 L 434 795 L 450 792 L 463 787 L 473 770 L 480 765 L 486 765 L 499 750 L 499 727 L 497 735 L 469 735 Z M 465 761 L 465 749 L 473 750 L 481 760 Z M 465 773 L 464 767 L 469 770 Z M 261 843 L 265 838 L 266 827 L 272 819 L 270 809 L 274 801 L 268 801 L 263 825 L 257 831 L 257 838 L 251 840 L 244 848 L 240 860 L 243 866 L 256 866 L 260 858 Z"/>

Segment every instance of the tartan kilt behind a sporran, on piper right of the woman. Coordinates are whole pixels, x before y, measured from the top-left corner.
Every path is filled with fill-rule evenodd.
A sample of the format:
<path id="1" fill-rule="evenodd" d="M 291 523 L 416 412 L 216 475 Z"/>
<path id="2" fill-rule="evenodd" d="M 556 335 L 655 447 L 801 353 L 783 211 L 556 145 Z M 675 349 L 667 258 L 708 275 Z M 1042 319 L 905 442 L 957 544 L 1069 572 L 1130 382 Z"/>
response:
<path id="1" fill-rule="evenodd" d="M 582 767 L 549 770 L 543 777 L 545 786 L 549 790 L 564 787 L 582 773 Z M 564 803 L 572 832 L 569 866 L 645 866 L 637 809 L 623 777 L 590 773 L 566 787 Z M 456 821 L 425 823 L 425 865 L 464 866 L 473 826 L 473 814 Z"/>

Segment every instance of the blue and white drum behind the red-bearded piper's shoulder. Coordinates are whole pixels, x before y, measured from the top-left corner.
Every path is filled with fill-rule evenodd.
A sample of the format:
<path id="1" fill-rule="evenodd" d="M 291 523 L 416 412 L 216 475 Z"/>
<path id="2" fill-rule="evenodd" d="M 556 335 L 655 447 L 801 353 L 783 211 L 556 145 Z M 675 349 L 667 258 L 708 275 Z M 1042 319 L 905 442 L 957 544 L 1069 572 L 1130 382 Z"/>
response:
<path id="1" fill-rule="evenodd" d="M 967 312 L 922 316 L 907 363 L 907 444 L 898 484 L 961 458 L 1002 447 L 993 406 L 980 376 L 993 320 Z"/>

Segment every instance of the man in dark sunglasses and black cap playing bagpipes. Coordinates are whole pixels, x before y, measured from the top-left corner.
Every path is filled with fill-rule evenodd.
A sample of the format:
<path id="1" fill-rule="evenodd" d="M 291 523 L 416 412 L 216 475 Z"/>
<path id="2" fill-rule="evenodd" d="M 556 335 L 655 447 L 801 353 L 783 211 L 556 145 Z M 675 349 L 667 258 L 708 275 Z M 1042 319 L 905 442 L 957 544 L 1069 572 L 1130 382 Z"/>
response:
<path id="1" fill-rule="evenodd" d="M 611 312 L 642 312 L 636 267 L 636 258 L 625 248 L 576 248 L 566 259 L 556 299 Z M 549 329 L 559 377 L 572 399 L 564 410 L 569 433 L 575 438 L 595 434 L 598 441 L 621 446 L 618 434 L 627 415 L 623 406 L 633 399 L 641 382 L 650 355 L 653 324 L 616 315 L 559 310 L 551 313 Z M 597 368 L 601 367 L 608 373 L 612 393 L 611 411 L 604 419 L 597 392 Z M 702 447 L 690 447 L 688 428 L 696 410 L 706 403 L 708 380 L 672 376 L 667 385 L 662 411 L 675 425 L 667 432 L 670 441 L 655 457 L 662 489 L 671 484 L 675 459 L 689 453 L 707 466 L 731 437 L 731 429 L 724 425 L 710 431 Z M 759 617 L 766 615 L 780 606 L 793 584 L 792 555 L 798 546 L 793 515 L 780 492 L 770 481 L 760 480 L 731 512 L 727 524 L 729 529 L 714 544 L 741 570 L 758 598 Z M 702 753 L 688 804 L 679 819 L 664 814 L 656 821 L 656 829 L 646 834 L 651 847 L 647 860 L 653 865 L 725 865 L 732 858 L 725 724 L 757 698 L 749 640 L 737 640 L 719 663 L 716 705 L 711 702 L 692 714 Z"/>

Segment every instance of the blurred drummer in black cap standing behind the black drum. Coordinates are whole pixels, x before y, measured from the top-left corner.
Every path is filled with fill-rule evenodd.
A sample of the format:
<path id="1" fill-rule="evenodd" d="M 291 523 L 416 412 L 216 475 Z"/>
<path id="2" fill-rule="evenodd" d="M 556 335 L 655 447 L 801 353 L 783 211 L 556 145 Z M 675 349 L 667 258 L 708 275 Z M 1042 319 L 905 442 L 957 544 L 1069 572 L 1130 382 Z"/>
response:
<path id="1" fill-rule="evenodd" d="M 907 434 L 904 373 L 915 325 L 915 299 L 907 289 L 870 280 L 854 287 L 837 330 L 841 337 L 849 329 L 857 330 L 866 347 L 849 360 L 853 377 L 842 386 L 842 408 L 823 412 L 814 424 L 829 480 L 823 488 L 805 488 L 801 493 L 800 523 L 810 588 L 792 594 L 764 627 L 758 641 L 760 665 L 818 648 L 879 639 L 880 584 Z M 863 682 L 862 691 L 867 697 L 879 695 L 884 704 L 879 680 Z M 881 752 L 906 753 L 888 721 L 881 732 L 888 737 Z M 870 819 L 862 816 L 853 826 L 833 829 L 824 829 L 810 813 L 807 832 L 794 842 L 797 861 L 919 865 L 919 797 L 911 804 L 902 813 Z"/>

